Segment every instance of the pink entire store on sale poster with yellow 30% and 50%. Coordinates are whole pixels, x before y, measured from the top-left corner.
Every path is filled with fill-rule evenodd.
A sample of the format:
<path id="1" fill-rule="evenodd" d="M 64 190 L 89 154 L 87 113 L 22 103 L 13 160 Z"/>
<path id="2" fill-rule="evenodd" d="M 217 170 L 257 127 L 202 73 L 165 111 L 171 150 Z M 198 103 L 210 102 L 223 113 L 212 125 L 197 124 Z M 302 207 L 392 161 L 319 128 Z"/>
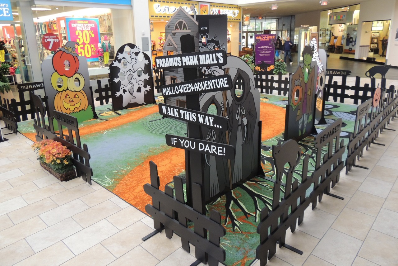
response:
<path id="1" fill-rule="evenodd" d="M 78 55 L 87 61 L 98 61 L 98 43 L 100 39 L 100 23 L 98 18 L 65 18 L 68 41 L 76 41 Z"/>

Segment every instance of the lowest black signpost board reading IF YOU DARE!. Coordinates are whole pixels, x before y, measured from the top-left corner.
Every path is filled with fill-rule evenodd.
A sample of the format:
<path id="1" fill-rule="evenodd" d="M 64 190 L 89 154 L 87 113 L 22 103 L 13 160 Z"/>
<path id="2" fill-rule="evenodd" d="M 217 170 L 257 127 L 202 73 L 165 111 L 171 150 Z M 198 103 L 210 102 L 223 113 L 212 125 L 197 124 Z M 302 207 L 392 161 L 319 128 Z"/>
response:
<path id="1" fill-rule="evenodd" d="M 208 154 L 211 156 L 224 157 L 230 160 L 235 158 L 235 148 L 232 145 L 207 140 L 197 140 L 194 138 L 184 138 L 169 134 L 166 134 L 166 144 L 171 147 Z"/>

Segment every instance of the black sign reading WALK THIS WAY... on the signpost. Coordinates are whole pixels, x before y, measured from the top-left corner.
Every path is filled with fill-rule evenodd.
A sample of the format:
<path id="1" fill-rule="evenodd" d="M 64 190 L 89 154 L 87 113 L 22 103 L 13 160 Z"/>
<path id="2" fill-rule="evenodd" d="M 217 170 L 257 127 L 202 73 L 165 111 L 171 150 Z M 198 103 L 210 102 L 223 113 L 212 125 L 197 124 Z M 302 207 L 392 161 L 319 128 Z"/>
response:
<path id="1" fill-rule="evenodd" d="M 228 120 L 225 117 L 194 111 L 187 108 L 176 107 L 164 103 L 159 104 L 159 114 L 222 131 L 226 131 L 228 125 Z"/>

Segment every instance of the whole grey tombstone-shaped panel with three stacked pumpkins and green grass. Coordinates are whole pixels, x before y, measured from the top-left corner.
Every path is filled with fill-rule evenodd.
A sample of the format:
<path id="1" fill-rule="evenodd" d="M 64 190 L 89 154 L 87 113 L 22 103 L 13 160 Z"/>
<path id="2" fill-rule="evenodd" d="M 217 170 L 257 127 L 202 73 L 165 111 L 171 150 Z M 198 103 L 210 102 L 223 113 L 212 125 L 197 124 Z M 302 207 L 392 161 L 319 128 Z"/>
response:
<path id="1" fill-rule="evenodd" d="M 49 116 L 54 110 L 83 122 L 94 118 L 87 59 L 76 53 L 76 42 L 68 41 L 52 60 L 41 63 Z"/>

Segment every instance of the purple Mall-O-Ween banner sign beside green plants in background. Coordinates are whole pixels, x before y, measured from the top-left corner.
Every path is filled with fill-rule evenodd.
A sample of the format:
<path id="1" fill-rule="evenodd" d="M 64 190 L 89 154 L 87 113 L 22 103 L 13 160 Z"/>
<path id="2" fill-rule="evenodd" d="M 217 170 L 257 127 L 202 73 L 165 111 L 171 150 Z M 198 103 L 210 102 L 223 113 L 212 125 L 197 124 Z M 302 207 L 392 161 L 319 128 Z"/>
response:
<path id="1" fill-rule="evenodd" d="M 275 34 L 256 34 L 254 35 L 254 63 L 262 66 L 273 65 L 275 63 Z M 264 68 L 264 67 L 261 67 Z"/>

